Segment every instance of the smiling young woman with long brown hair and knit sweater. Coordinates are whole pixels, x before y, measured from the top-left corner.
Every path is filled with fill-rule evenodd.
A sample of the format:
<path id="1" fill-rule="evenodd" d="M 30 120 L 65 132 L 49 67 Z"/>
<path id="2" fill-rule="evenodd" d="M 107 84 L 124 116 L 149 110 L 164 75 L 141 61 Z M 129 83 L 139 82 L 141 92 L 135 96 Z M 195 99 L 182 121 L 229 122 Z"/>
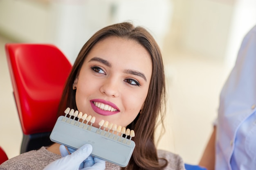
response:
<path id="1" fill-rule="evenodd" d="M 165 101 L 164 66 L 157 43 L 146 29 L 124 22 L 99 30 L 82 47 L 67 78 L 58 116 L 70 107 L 95 116 L 94 125 L 103 119 L 135 131 L 136 147 L 128 166 L 106 162 L 106 169 L 183 170 L 179 156 L 157 151 L 155 146 L 155 126 L 158 118 L 163 120 Z M 38 153 L 42 150 L 48 159 L 42 160 Z M 59 154 L 55 143 L 47 150 L 43 147 L 10 159 L 0 168 L 29 157 L 19 161 L 20 166 L 39 159 L 34 163 L 43 169 Z"/>

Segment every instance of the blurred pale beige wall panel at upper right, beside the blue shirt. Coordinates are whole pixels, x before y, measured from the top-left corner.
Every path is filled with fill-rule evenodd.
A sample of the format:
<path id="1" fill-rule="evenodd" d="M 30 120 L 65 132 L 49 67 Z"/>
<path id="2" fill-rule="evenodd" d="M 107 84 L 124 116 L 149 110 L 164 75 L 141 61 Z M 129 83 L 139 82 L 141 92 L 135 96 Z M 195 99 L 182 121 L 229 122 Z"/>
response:
<path id="1" fill-rule="evenodd" d="M 174 0 L 177 47 L 212 59 L 224 59 L 234 5 L 223 2 Z"/>

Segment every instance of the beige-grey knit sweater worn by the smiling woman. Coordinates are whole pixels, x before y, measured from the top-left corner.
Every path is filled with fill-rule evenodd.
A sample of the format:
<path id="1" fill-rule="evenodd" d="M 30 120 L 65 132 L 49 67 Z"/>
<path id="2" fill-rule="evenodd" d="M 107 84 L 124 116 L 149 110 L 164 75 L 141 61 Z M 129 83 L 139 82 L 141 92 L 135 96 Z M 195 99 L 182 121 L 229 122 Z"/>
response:
<path id="1" fill-rule="evenodd" d="M 158 156 L 168 160 L 168 166 L 164 170 L 185 170 L 184 163 L 177 154 L 158 150 Z M 59 158 L 61 155 L 49 152 L 45 147 L 42 147 L 39 150 L 32 150 L 5 161 L 0 165 L 0 170 L 43 170 L 45 166 Z M 106 162 L 105 170 L 120 169 L 119 166 Z"/>

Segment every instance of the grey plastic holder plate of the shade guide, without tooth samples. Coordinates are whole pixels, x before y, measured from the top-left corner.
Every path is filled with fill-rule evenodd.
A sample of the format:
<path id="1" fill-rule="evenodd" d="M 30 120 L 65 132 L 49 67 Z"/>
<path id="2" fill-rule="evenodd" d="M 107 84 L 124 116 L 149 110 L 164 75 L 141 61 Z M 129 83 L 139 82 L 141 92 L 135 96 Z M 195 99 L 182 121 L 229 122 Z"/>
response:
<path id="1" fill-rule="evenodd" d="M 130 141 L 121 136 L 117 136 L 116 134 L 109 134 L 107 131 L 103 130 L 101 130 L 101 132 L 104 132 L 104 135 L 97 134 L 96 131 L 99 130 L 99 128 L 87 125 L 88 128 L 92 128 L 92 130 L 83 129 L 78 126 L 71 125 L 70 123 L 63 122 L 61 120 L 63 117 L 64 116 L 58 118 L 50 135 L 50 139 L 53 142 L 67 145 L 74 149 L 77 149 L 81 147 L 81 144 L 86 143 L 90 143 L 93 148 L 99 148 L 103 146 L 100 150 L 93 150 L 92 154 L 95 157 L 101 157 L 103 160 L 117 164 L 121 167 L 126 167 L 128 165 L 132 152 L 135 148 L 134 141 Z M 74 121 L 76 122 L 77 120 Z M 81 124 L 83 126 L 86 125 L 85 123 L 79 122 L 79 125 Z M 110 135 L 117 136 L 118 141 L 111 139 Z M 71 136 L 72 139 L 70 139 Z M 113 153 L 115 154 L 112 155 Z"/>

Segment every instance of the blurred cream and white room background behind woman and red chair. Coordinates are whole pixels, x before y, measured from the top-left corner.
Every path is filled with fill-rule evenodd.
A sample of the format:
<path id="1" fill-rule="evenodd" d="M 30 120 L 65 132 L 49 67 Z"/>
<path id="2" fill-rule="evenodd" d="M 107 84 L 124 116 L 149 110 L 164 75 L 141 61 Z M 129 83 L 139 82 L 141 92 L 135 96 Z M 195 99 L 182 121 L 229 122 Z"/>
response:
<path id="1" fill-rule="evenodd" d="M 53 44 L 73 63 L 94 32 L 130 20 L 153 34 L 164 59 L 166 132 L 157 148 L 198 164 L 255 8 L 255 0 L 0 0 L 0 146 L 10 159 L 22 141 L 6 43 Z"/>

